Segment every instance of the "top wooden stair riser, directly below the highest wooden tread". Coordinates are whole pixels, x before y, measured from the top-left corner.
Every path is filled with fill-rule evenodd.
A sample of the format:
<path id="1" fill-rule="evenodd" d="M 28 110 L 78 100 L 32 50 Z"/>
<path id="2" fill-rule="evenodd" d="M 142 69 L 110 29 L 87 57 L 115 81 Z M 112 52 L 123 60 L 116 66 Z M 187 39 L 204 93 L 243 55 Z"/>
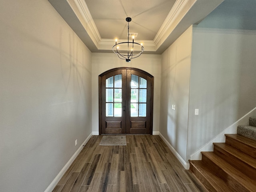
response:
<path id="1" fill-rule="evenodd" d="M 252 148 L 246 144 L 243 144 L 237 140 L 234 140 L 233 138 L 226 137 L 226 144 L 252 156 L 253 158 L 256 158 L 256 149 Z"/>

